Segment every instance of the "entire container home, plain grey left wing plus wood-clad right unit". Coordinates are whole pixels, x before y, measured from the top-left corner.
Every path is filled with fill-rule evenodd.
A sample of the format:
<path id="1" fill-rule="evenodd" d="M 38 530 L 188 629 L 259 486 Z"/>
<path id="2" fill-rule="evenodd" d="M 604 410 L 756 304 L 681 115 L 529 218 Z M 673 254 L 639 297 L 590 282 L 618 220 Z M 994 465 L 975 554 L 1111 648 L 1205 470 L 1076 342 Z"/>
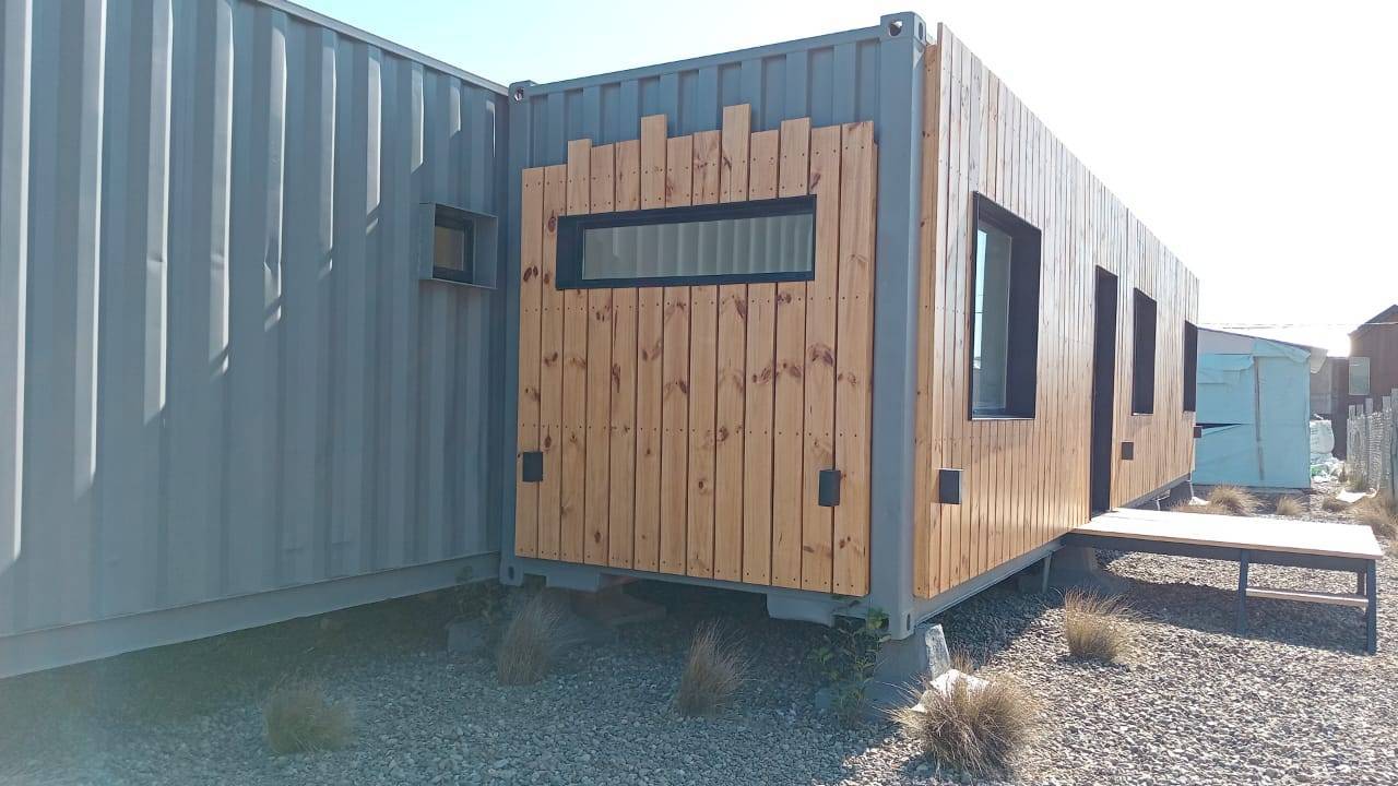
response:
<path id="1" fill-rule="evenodd" d="M 0 674 L 463 569 L 902 638 L 1192 466 L 1194 277 L 916 14 L 506 88 L 0 8 Z"/>

